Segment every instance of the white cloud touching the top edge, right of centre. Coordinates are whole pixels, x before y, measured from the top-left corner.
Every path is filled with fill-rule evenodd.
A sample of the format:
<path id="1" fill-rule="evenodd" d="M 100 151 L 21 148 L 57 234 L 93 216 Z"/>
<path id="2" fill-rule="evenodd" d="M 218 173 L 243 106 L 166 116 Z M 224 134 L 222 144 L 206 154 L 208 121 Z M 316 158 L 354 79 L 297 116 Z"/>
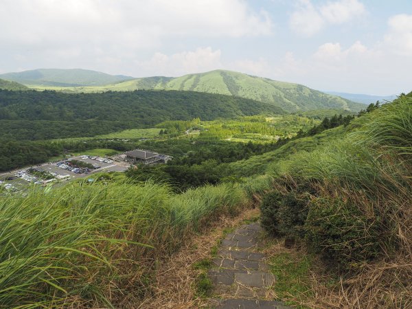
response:
<path id="1" fill-rule="evenodd" d="M 314 6 L 310 0 L 299 0 L 297 9 L 290 15 L 293 31 L 312 36 L 325 25 L 342 24 L 365 14 L 365 6 L 358 0 L 339 0 Z"/>

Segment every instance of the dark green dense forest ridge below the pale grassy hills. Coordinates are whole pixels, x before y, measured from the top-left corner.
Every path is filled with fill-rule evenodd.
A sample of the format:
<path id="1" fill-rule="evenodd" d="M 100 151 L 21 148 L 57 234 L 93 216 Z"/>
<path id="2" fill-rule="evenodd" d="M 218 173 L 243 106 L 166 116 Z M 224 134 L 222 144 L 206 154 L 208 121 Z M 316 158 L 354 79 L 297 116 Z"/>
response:
<path id="1" fill-rule="evenodd" d="M 281 108 L 229 95 L 192 91 L 60 93 L 1 91 L 0 130 L 14 140 L 84 137 L 125 128 L 145 128 L 165 120 L 211 120 Z"/>

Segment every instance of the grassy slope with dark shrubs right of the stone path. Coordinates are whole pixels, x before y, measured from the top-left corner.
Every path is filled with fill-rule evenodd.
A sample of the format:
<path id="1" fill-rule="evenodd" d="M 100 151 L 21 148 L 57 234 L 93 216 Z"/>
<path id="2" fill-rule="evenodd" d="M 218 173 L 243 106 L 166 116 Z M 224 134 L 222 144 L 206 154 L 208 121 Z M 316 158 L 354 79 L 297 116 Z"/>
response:
<path id="1" fill-rule="evenodd" d="M 303 231 L 299 241 L 340 277 L 332 285 L 314 280 L 312 306 L 412 306 L 411 155 L 409 94 L 365 116 L 343 140 L 273 165 L 278 196 L 262 204 L 268 230 L 277 222 L 282 236 Z M 300 205 L 303 221 L 286 218 L 288 205 Z"/>

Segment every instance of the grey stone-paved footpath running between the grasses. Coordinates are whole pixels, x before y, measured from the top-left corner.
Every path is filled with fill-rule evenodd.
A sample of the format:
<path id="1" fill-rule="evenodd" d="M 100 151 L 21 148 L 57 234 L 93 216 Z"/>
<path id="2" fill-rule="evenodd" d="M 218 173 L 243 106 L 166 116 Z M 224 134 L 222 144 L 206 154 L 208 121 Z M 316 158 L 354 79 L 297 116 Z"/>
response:
<path id="1" fill-rule="evenodd" d="M 255 222 L 242 225 L 222 240 L 214 268 L 208 273 L 214 283 L 214 295 L 219 297 L 211 301 L 212 308 L 290 308 L 281 301 L 263 300 L 270 299 L 275 277 L 268 271 L 264 255 L 258 252 L 261 232 Z"/>

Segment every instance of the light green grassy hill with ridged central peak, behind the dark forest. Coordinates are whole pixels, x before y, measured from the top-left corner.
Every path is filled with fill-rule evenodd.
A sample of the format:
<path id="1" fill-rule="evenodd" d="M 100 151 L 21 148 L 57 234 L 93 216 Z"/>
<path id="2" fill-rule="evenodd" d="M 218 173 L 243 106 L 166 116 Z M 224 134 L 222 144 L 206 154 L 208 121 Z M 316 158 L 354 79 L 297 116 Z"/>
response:
<path id="1" fill-rule="evenodd" d="M 161 89 L 220 93 L 275 104 L 289 112 L 320 108 L 359 111 L 365 107 L 363 104 L 328 95 L 301 84 L 279 82 L 224 70 L 188 74 L 179 78 L 136 78 L 102 88 L 112 91 Z"/>

